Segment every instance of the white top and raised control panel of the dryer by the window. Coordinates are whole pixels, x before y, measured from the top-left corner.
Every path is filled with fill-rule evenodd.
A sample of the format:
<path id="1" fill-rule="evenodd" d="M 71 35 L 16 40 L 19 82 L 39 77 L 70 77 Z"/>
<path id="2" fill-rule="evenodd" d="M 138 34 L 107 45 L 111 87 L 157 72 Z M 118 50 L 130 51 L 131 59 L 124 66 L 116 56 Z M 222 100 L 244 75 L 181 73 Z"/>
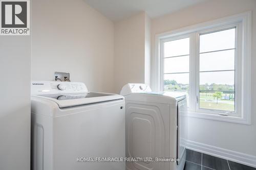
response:
<path id="1" fill-rule="evenodd" d="M 186 94 L 182 92 L 153 92 L 148 85 L 138 83 L 126 84 L 120 94 L 125 97 L 125 100 L 163 104 L 177 103 L 186 98 Z"/>

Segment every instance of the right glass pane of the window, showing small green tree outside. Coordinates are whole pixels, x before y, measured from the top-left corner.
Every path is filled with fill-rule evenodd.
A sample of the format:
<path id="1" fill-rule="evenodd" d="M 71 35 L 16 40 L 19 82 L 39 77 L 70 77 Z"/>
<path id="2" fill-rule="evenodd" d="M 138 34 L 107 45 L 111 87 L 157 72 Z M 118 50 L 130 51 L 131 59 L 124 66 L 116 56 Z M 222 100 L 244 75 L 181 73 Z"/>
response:
<path id="1" fill-rule="evenodd" d="M 235 112 L 236 27 L 199 35 L 199 108 Z"/>

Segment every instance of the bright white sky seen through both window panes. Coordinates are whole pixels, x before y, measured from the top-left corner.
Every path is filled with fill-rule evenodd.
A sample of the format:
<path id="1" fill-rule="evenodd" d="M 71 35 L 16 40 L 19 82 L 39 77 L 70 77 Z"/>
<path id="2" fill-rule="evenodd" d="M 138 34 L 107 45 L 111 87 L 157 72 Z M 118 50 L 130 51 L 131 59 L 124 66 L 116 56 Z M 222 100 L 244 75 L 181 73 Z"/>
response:
<path id="1" fill-rule="evenodd" d="M 235 28 L 200 35 L 200 71 L 215 71 L 200 72 L 200 84 L 234 84 L 235 39 Z M 188 84 L 189 57 L 189 37 L 164 42 L 164 73 L 176 73 L 164 79 Z"/>

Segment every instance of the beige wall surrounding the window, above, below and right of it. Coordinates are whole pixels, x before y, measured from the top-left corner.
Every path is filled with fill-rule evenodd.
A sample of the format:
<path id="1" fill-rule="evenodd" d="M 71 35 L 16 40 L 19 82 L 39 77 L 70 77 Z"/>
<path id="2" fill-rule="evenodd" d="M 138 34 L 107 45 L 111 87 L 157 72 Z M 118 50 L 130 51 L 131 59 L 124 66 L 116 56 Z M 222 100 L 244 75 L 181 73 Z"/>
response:
<path id="1" fill-rule="evenodd" d="M 214 0 L 207 1 L 176 13 L 152 20 L 152 56 L 155 35 L 200 22 L 221 18 L 241 12 L 252 11 L 252 112 L 251 125 L 218 122 L 214 120 L 188 118 L 188 139 L 231 151 L 256 156 L 256 1 Z"/>

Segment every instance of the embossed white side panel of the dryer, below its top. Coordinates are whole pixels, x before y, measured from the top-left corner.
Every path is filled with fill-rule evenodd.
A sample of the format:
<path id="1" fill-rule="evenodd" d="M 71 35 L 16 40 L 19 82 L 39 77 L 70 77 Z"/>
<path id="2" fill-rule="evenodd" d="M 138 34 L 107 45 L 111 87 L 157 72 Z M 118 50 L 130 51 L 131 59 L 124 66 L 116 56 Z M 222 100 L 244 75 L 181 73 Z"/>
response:
<path id="1" fill-rule="evenodd" d="M 167 157 L 169 105 L 126 101 L 126 157 Z M 166 141 L 167 140 L 167 141 Z M 168 169 L 168 162 L 142 160 L 126 162 L 126 169 Z"/>

